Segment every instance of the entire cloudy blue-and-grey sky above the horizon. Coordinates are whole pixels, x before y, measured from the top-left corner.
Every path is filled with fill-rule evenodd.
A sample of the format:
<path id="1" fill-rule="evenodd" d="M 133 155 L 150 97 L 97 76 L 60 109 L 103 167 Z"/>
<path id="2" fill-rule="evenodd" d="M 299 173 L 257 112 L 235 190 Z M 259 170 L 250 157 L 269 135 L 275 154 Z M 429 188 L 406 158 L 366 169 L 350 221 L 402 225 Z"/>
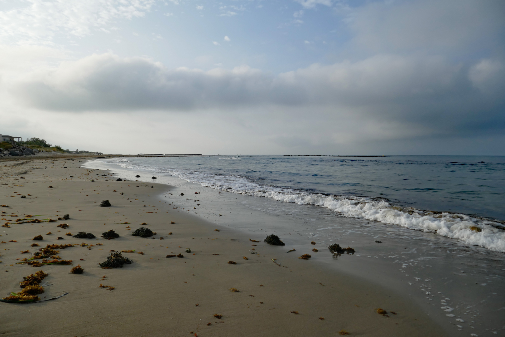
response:
<path id="1" fill-rule="evenodd" d="M 504 1 L 0 0 L 0 132 L 109 154 L 505 155 Z"/>

